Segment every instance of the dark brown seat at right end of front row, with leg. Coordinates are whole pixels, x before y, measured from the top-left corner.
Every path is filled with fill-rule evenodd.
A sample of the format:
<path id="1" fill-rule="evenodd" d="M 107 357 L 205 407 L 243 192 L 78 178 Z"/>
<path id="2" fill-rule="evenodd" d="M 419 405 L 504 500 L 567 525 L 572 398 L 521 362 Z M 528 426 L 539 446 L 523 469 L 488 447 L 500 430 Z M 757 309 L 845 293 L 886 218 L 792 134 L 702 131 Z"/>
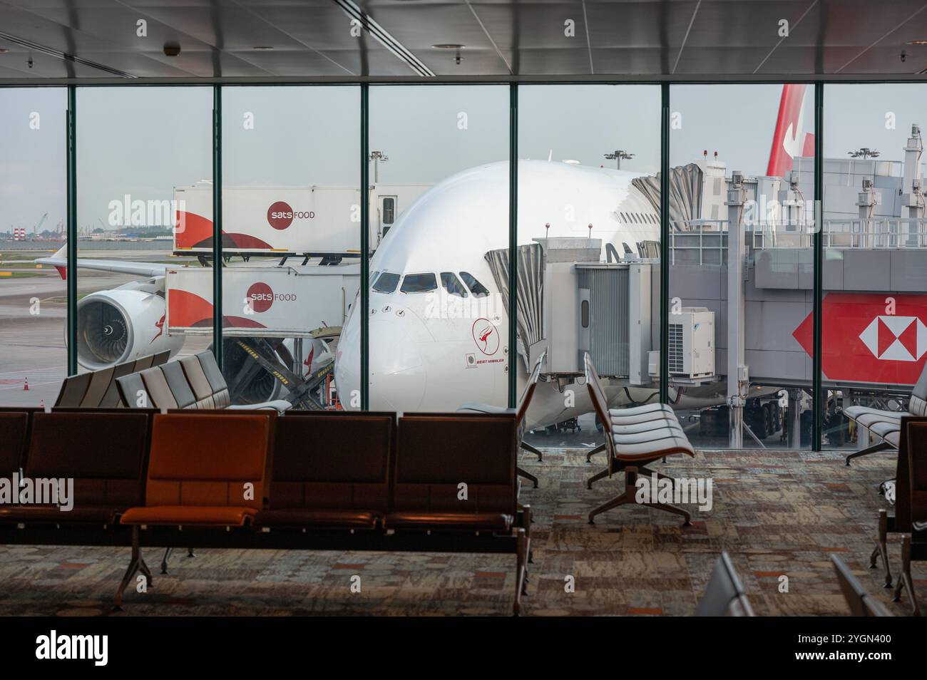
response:
<path id="1" fill-rule="evenodd" d="M 400 418 L 398 432 L 385 528 L 397 535 L 514 536 L 517 614 L 527 583 L 530 516 L 523 526 L 516 525 L 514 414 L 407 414 Z"/>

